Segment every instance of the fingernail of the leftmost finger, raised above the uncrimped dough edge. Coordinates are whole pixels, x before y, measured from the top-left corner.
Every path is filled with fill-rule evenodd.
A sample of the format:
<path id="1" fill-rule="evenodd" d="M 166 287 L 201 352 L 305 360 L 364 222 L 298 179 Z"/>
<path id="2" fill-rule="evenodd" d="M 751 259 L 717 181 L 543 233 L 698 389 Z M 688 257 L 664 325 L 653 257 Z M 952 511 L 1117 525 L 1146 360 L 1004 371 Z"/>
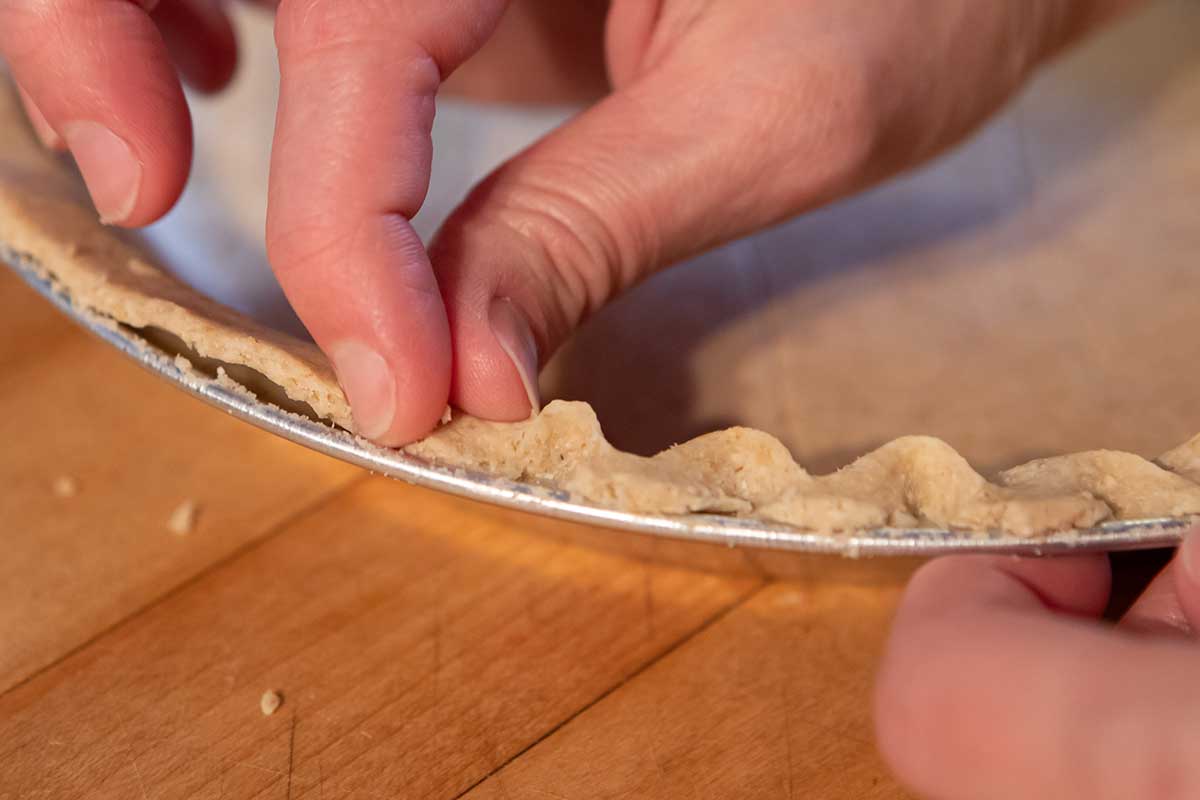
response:
<path id="1" fill-rule="evenodd" d="M 67 122 L 62 138 L 74 156 L 104 224 L 124 222 L 138 201 L 142 163 L 122 138 L 97 122 Z"/>

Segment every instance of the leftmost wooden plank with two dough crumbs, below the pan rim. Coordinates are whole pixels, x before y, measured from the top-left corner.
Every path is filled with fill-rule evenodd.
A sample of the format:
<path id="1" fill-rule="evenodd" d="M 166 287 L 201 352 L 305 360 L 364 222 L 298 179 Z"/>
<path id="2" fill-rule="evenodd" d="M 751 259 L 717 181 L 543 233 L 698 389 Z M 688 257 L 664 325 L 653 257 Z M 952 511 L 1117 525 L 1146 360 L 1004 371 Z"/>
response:
<path id="1" fill-rule="evenodd" d="M 155 380 L 6 270 L 0 308 L 0 691 L 360 475 Z"/>

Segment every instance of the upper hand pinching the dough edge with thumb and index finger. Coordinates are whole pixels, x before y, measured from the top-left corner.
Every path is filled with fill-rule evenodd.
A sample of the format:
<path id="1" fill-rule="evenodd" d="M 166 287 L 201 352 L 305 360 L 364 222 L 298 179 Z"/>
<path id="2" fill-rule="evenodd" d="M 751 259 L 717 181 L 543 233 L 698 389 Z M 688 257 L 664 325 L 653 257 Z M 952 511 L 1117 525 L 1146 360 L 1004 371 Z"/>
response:
<path id="1" fill-rule="evenodd" d="M 283 0 L 268 253 L 360 433 L 412 440 L 448 398 L 522 419 L 539 363 L 614 294 L 935 155 L 1134 1 L 612 0 L 613 92 L 485 180 L 426 253 L 408 221 L 434 96 L 506 0 Z M 30 116 L 106 221 L 148 223 L 179 194 L 169 58 L 202 86 L 228 77 L 215 8 L 0 0 Z"/>

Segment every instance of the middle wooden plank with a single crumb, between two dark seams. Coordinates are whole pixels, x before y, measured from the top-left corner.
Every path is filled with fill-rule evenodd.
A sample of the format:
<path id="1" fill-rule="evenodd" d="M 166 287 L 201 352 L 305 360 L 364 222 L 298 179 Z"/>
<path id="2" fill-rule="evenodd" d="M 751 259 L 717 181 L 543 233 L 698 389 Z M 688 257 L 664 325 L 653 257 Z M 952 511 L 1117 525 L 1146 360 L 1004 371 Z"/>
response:
<path id="1" fill-rule="evenodd" d="M 757 585 L 522 519 L 350 488 L 0 697 L 0 798 L 452 798 Z"/>

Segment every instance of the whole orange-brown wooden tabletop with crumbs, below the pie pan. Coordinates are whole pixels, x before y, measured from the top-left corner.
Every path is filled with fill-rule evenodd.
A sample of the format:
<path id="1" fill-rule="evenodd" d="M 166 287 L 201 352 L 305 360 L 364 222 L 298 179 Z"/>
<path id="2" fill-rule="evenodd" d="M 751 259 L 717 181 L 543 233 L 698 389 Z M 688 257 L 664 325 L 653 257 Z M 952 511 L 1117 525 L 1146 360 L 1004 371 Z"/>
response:
<path id="1" fill-rule="evenodd" d="M 898 796 L 869 698 L 907 566 L 704 571 L 373 477 L 2 270 L 0 441 L 2 800 Z"/>

